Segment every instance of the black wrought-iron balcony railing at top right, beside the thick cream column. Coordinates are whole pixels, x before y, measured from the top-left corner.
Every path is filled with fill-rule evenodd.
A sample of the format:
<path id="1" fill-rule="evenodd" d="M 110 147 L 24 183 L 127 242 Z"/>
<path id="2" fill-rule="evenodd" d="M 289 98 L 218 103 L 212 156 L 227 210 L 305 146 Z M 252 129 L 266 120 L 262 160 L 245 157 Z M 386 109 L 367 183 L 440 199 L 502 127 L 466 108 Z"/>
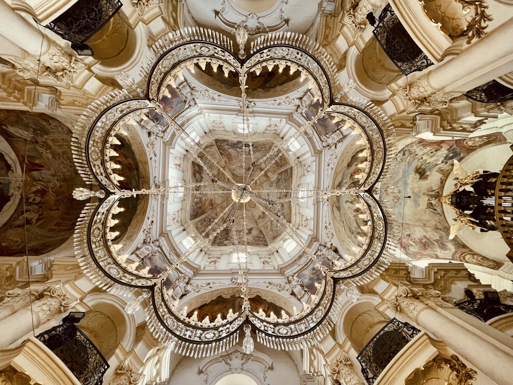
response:
<path id="1" fill-rule="evenodd" d="M 403 74 L 422 71 L 433 64 L 406 32 L 390 4 L 381 12 L 372 33 Z"/>

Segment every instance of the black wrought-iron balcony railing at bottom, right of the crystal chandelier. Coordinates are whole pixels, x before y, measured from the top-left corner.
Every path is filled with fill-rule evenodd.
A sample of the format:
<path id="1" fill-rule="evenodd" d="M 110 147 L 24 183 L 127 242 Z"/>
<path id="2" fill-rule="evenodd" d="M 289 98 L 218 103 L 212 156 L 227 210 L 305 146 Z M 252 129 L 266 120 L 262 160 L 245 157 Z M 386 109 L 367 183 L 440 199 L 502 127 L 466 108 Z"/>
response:
<path id="1" fill-rule="evenodd" d="M 396 318 L 383 326 L 357 356 L 367 383 L 372 385 L 392 358 L 419 333 L 415 326 Z"/>

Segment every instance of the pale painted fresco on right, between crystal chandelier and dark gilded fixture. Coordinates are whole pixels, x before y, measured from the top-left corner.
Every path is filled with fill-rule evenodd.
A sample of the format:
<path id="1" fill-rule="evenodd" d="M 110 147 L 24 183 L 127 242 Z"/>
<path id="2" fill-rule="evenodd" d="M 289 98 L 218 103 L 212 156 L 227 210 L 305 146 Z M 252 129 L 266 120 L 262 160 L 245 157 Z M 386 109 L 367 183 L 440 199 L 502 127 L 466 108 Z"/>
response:
<path id="1" fill-rule="evenodd" d="M 495 269 L 503 265 L 471 251 L 458 237 L 449 240 L 450 225 L 440 198 L 454 159 L 461 161 L 478 148 L 505 142 L 502 134 L 492 133 L 458 140 L 409 140 L 400 147 L 398 165 L 382 199 L 391 202 L 397 218 L 402 219 L 403 255 L 413 260 L 451 259 Z"/>

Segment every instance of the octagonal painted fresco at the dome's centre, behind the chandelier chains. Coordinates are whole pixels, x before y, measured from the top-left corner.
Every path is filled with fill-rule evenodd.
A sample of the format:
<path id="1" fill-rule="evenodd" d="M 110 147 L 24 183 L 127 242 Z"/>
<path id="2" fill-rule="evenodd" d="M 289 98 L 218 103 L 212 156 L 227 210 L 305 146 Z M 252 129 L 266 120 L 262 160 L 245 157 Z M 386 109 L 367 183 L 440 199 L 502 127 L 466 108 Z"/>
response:
<path id="1" fill-rule="evenodd" d="M 244 177 L 249 176 L 251 165 L 249 163 L 246 164 L 244 170 L 242 167 L 245 163 L 243 157 L 250 159 L 250 151 L 252 151 L 254 158 L 262 159 L 272 148 L 272 142 L 253 142 L 252 149 L 250 149 L 249 145 L 245 145 L 241 141 L 216 139 L 212 143 L 204 146 L 203 150 L 213 161 L 222 164 L 236 183 L 244 184 Z M 292 169 L 290 163 L 286 156 L 281 156 L 281 151 L 279 151 L 278 154 L 280 155 L 278 160 L 267 168 L 261 176 L 253 180 L 250 185 L 252 190 L 282 191 L 291 189 Z M 212 160 L 206 159 L 206 155 L 200 154 L 199 157 L 207 167 L 213 166 Z M 191 171 L 192 183 L 205 182 L 211 179 L 207 170 L 197 162 L 192 162 Z M 200 186 L 200 189 L 204 190 L 209 190 L 210 188 L 211 187 Z M 222 190 L 223 189 L 219 187 L 218 191 Z M 290 193 L 273 192 L 269 193 L 267 196 L 268 199 L 279 200 L 290 197 Z M 208 230 L 208 226 L 227 208 L 231 203 L 230 201 L 232 201 L 231 197 L 226 197 L 226 194 L 199 194 L 194 196 L 191 201 L 190 219 L 196 231 L 200 234 L 205 233 L 206 237 L 210 236 L 211 233 Z M 290 222 L 291 203 L 280 202 L 277 204 L 276 208 L 284 216 L 285 220 Z M 244 210 L 246 210 L 246 213 L 244 213 Z M 268 246 L 283 235 L 283 230 L 272 226 L 262 209 L 251 200 L 240 205 L 233 213 L 228 211 L 226 215 L 234 216 L 234 226 L 236 233 L 238 233 L 238 238 L 243 239 L 244 243 L 248 246 Z M 246 216 L 245 221 L 244 216 Z M 245 227 L 244 223 L 246 223 Z M 211 245 L 229 246 L 233 243 L 231 237 L 230 230 L 225 229 L 214 237 Z"/>

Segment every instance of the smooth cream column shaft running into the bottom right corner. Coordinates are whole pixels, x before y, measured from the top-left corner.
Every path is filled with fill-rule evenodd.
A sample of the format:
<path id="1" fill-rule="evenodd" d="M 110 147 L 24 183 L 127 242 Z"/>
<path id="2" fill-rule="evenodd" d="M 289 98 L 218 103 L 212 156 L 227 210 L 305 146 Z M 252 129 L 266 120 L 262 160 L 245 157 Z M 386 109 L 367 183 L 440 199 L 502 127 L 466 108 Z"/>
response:
<path id="1" fill-rule="evenodd" d="M 513 350 L 510 348 L 483 333 L 473 333 L 468 325 L 453 322 L 417 298 L 399 296 L 397 307 L 422 329 L 464 357 L 478 375 L 481 371 L 498 384 L 511 382 Z"/>

